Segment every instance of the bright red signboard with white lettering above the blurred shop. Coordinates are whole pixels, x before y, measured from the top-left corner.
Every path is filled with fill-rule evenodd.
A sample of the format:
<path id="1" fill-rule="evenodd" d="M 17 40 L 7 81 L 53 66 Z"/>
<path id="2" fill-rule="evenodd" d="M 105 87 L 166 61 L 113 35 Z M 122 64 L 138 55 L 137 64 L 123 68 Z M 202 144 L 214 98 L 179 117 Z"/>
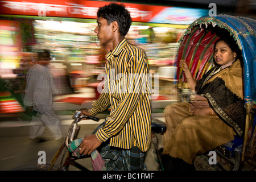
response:
<path id="1" fill-rule="evenodd" d="M 110 2 L 82 0 L 11 0 L 0 1 L 0 13 L 6 15 L 58 16 L 97 19 L 98 7 Z M 123 3 L 134 22 L 148 22 L 162 11 L 164 6 Z"/>

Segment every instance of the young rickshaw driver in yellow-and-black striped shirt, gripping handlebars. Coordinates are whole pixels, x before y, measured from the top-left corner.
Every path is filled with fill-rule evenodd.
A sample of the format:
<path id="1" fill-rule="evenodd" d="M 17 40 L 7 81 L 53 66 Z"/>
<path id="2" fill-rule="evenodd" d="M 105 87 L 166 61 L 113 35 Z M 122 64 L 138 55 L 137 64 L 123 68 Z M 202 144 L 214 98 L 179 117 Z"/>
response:
<path id="1" fill-rule="evenodd" d="M 94 32 L 100 42 L 110 49 L 106 54 L 108 79 L 105 80 L 100 97 L 93 102 L 92 109 L 81 111 L 90 116 L 104 111 L 109 105 L 112 110 L 96 134 L 85 136 L 79 146 L 79 153 L 89 155 L 101 146 L 99 152 L 107 170 L 144 170 L 144 159 L 151 142 L 147 57 L 141 48 L 132 46 L 125 39 L 131 26 L 130 13 L 125 6 L 111 3 L 100 7 L 97 17 L 98 26 Z M 111 84 L 111 80 L 116 80 L 118 74 L 144 77 L 135 77 L 133 81 L 127 77 L 127 82 L 134 85 L 133 92 L 121 93 L 116 85 L 112 87 Z M 146 92 L 142 93 L 143 88 Z"/>

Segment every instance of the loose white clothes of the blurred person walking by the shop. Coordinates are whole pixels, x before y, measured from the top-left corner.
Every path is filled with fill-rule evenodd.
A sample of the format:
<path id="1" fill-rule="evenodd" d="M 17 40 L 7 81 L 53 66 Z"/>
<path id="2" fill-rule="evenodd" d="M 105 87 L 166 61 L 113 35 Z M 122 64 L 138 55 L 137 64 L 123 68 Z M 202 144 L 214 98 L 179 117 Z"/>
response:
<path id="1" fill-rule="evenodd" d="M 24 96 L 24 105 L 33 106 L 35 110 L 43 113 L 42 117 L 32 117 L 30 138 L 43 134 L 45 127 L 55 136 L 62 137 L 60 119 L 53 111 L 52 95 L 58 90 L 53 84 L 53 79 L 47 67 L 34 64 L 27 73 L 27 85 Z M 38 125 L 38 122 L 42 122 Z"/>

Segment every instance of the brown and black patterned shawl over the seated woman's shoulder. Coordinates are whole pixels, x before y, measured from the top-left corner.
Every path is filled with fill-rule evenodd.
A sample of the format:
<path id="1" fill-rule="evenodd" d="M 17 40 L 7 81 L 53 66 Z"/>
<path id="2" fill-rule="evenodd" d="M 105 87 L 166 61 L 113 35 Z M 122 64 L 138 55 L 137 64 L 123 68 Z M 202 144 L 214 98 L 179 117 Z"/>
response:
<path id="1" fill-rule="evenodd" d="M 229 68 L 215 73 L 219 68 L 212 68 L 197 82 L 195 89 L 208 99 L 218 117 L 241 137 L 245 122 L 241 62 L 237 60 Z"/>

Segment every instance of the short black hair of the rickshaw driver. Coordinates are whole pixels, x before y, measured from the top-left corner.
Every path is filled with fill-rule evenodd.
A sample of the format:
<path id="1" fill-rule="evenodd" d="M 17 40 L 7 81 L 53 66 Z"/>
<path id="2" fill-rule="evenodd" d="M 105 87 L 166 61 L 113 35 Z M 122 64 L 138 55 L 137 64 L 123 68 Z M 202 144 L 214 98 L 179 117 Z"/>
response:
<path id="1" fill-rule="evenodd" d="M 125 36 L 131 26 L 131 16 L 123 4 L 110 3 L 100 7 L 97 11 L 97 17 L 102 17 L 108 21 L 108 24 L 117 21 L 119 32 Z"/>

